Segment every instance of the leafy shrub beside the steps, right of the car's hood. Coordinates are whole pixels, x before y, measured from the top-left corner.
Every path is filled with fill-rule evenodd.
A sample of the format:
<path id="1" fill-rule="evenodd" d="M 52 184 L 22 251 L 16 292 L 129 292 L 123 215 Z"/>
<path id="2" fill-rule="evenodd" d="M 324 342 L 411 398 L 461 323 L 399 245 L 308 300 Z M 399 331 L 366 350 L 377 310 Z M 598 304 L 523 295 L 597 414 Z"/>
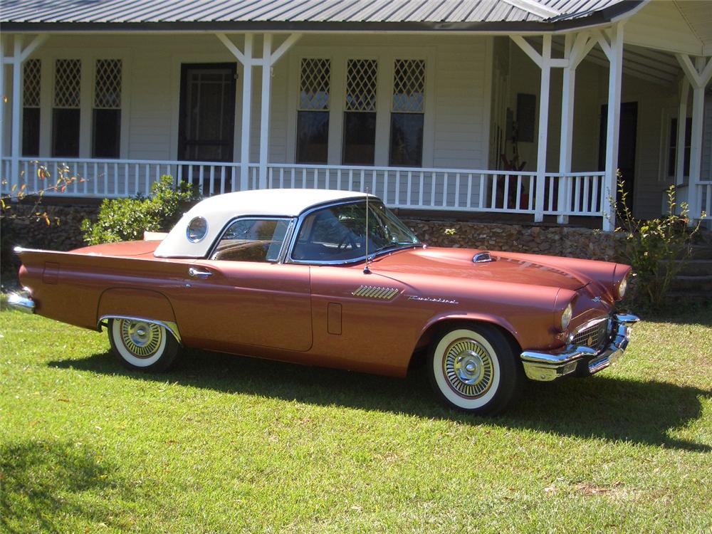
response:
<path id="1" fill-rule="evenodd" d="M 630 263 L 637 275 L 632 298 L 646 308 L 661 308 L 667 302 L 666 295 L 673 279 L 690 256 L 690 244 L 700 224 L 689 226 L 686 202 L 680 204 L 676 214 L 675 187 L 672 185 L 667 189 L 668 214 L 648 221 L 634 219 L 626 203 L 627 193 L 621 179 L 618 192 L 621 201 L 615 207 L 620 226 L 616 231 L 626 234 L 626 239 L 619 241 L 619 256 Z"/>

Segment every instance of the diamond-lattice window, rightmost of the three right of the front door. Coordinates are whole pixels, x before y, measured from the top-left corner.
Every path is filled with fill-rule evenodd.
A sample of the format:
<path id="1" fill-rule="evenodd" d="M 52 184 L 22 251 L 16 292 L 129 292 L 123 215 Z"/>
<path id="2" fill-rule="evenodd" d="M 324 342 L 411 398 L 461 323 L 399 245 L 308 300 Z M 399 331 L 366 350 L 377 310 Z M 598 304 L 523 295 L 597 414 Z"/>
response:
<path id="1" fill-rule="evenodd" d="M 397 59 L 393 66 L 389 164 L 422 165 L 424 120 L 425 61 Z"/>

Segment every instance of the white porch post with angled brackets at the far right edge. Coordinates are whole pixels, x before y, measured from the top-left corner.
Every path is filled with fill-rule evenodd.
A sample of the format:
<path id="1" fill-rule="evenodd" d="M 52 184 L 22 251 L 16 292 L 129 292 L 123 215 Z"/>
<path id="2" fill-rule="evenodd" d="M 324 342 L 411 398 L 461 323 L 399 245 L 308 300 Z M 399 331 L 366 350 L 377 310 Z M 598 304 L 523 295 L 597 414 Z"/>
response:
<path id="1" fill-rule="evenodd" d="M 676 54 L 676 57 L 687 80 L 689 80 L 690 85 L 692 85 L 692 139 L 690 142 L 690 182 L 687 197 L 692 224 L 692 219 L 697 219 L 702 211 L 702 198 L 698 187 L 702 171 L 702 120 L 705 105 L 705 87 L 709 80 L 712 79 L 712 58 L 698 57 L 693 65 L 690 56 L 686 54 Z M 685 107 L 687 107 L 688 91 L 689 89 L 685 87 L 684 92 L 681 94 L 681 112 L 683 111 L 683 95 Z M 684 128 L 684 122 L 681 123 L 681 121 L 678 120 L 678 139 L 681 135 L 684 135 L 684 130 L 682 130 L 681 134 L 681 128 Z M 684 147 L 684 143 L 680 144 L 678 140 L 677 146 Z M 678 150 L 677 152 L 682 151 Z M 678 162 L 678 164 L 681 165 L 681 162 Z M 678 168 L 678 171 L 679 170 Z M 679 177 L 682 177 L 682 174 L 683 173 L 680 172 Z M 707 206 L 707 209 L 710 209 L 709 206 Z"/>

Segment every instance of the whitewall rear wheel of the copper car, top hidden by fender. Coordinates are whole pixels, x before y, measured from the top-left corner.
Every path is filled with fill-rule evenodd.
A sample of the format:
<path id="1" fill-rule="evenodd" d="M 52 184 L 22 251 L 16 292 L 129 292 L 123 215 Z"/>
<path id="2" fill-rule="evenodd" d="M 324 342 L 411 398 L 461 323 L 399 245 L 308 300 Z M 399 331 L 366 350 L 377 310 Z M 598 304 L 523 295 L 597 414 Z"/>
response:
<path id="1" fill-rule="evenodd" d="M 178 342 L 162 325 L 141 319 L 109 320 L 109 341 L 118 360 L 131 370 L 168 370 L 178 354 Z"/>

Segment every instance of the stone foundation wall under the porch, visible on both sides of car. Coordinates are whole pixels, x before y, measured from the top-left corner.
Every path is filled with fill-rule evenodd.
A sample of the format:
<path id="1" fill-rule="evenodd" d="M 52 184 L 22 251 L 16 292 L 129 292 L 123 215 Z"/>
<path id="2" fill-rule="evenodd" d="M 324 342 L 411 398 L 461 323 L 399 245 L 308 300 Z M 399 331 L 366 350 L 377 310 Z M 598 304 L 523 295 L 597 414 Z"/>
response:
<path id="1" fill-rule="evenodd" d="M 5 289 L 17 284 L 19 263 L 12 253 L 14 246 L 48 248 L 68 251 L 84 246 L 81 221 L 96 219 L 99 207 L 43 206 L 52 224 L 32 214 L 32 206 L 13 206 L 20 217 L 1 221 L 0 276 Z M 58 221 L 55 221 L 58 219 Z M 492 251 L 530 252 L 616 261 L 615 241 L 620 234 L 571 228 L 567 226 L 535 226 L 524 224 L 493 224 L 481 222 L 444 222 L 404 219 L 404 222 L 425 243 L 431 246 L 482 248 Z"/>

